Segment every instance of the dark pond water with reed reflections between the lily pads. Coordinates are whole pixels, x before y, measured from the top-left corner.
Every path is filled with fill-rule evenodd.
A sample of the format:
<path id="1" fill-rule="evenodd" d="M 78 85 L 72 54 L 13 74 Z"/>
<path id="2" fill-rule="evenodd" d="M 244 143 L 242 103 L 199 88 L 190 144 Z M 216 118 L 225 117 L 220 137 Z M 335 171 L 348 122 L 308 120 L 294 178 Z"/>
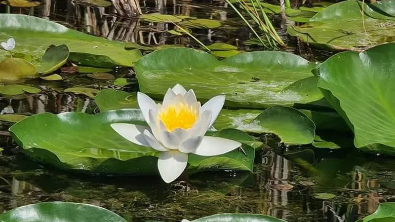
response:
<path id="1" fill-rule="evenodd" d="M 194 30 L 204 44 L 222 41 L 240 44 L 252 34 L 223 1 L 140 2 L 143 13 L 161 12 L 212 18 L 225 25 L 216 30 Z M 30 13 L 69 28 L 113 40 L 141 44 L 199 45 L 189 37 L 168 35 L 171 24 L 156 24 L 117 16 L 109 8 L 88 7 L 70 0 L 45 1 L 34 10 L 0 6 L 0 12 Z M 332 53 L 311 49 L 288 38 L 284 22 L 274 16 L 279 34 L 292 47 L 287 51 L 311 61 Z M 259 47 L 242 46 L 245 50 Z M 116 77 L 134 77 L 133 70 L 113 71 Z M 97 112 L 91 98 L 62 92 L 72 86 L 138 90 L 137 81 L 127 87 L 99 82 L 86 76 L 66 75 L 64 81 L 29 81 L 45 91 L 17 99 L 0 98 L 2 113 L 35 114 L 65 111 Z M 0 122 L 6 131 L 9 123 Z M 258 152 L 252 174 L 205 172 L 187 182 L 164 184 L 159 177 L 78 175 L 34 162 L 18 152 L 7 135 L 0 137 L 0 211 L 43 201 L 72 201 L 107 208 L 128 221 L 180 222 L 217 213 L 260 213 L 289 222 L 355 222 L 373 213 L 379 202 L 395 198 L 395 165 L 389 157 L 355 149 L 320 150 L 312 147 L 278 147 L 270 135 Z"/>

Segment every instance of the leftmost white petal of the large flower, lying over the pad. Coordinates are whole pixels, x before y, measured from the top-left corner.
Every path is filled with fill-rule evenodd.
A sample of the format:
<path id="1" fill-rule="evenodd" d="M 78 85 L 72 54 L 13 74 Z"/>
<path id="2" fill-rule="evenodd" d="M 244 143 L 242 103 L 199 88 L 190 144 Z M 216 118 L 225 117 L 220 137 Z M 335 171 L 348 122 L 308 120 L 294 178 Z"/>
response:
<path id="1" fill-rule="evenodd" d="M 120 136 L 137 145 L 151 147 L 144 138 L 145 126 L 134 125 L 130 123 L 113 123 L 110 125 Z"/>

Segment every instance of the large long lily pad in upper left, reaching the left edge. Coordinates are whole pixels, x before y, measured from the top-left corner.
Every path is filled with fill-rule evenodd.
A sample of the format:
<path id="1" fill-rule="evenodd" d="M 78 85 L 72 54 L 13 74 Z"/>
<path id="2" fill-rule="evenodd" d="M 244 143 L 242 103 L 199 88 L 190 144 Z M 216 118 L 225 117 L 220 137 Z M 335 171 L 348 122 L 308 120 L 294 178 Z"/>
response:
<path id="1" fill-rule="evenodd" d="M 137 49 L 125 50 L 123 42 L 90 36 L 38 17 L 0 14 L 0 39 L 8 39 L 11 36 L 16 41 L 14 52 L 32 55 L 37 61 L 51 44 L 65 44 L 71 53 L 108 57 L 117 66 L 133 66 L 133 63 L 141 57 Z M 8 52 L 0 50 L 0 60 L 7 55 Z M 79 61 L 74 62 L 83 64 L 85 58 L 78 58 Z M 101 67 L 102 65 L 98 63 L 95 66 Z"/>

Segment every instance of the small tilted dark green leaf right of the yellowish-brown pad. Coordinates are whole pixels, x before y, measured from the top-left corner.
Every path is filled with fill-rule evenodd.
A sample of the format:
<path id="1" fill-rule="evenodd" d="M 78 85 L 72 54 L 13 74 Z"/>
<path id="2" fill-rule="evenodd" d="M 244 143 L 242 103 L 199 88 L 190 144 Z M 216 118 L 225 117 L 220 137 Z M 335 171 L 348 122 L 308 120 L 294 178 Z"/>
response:
<path id="1" fill-rule="evenodd" d="M 40 74 L 49 74 L 60 69 L 69 58 L 69 48 L 66 45 L 59 45 L 48 48 L 37 65 Z"/>

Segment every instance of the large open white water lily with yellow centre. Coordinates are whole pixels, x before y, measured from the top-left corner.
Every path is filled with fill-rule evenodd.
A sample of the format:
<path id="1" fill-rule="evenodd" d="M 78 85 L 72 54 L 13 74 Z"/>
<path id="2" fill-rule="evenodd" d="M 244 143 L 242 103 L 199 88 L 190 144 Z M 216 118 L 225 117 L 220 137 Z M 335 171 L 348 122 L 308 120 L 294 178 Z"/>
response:
<path id="1" fill-rule="evenodd" d="M 127 123 L 113 123 L 111 127 L 132 143 L 160 151 L 158 170 L 166 183 L 185 170 L 188 153 L 215 156 L 241 146 L 234 140 L 204 136 L 224 106 L 224 95 L 200 106 L 194 90 L 187 92 L 177 84 L 167 90 L 162 104 L 141 92 L 137 93 L 137 102 L 149 127 Z"/>

